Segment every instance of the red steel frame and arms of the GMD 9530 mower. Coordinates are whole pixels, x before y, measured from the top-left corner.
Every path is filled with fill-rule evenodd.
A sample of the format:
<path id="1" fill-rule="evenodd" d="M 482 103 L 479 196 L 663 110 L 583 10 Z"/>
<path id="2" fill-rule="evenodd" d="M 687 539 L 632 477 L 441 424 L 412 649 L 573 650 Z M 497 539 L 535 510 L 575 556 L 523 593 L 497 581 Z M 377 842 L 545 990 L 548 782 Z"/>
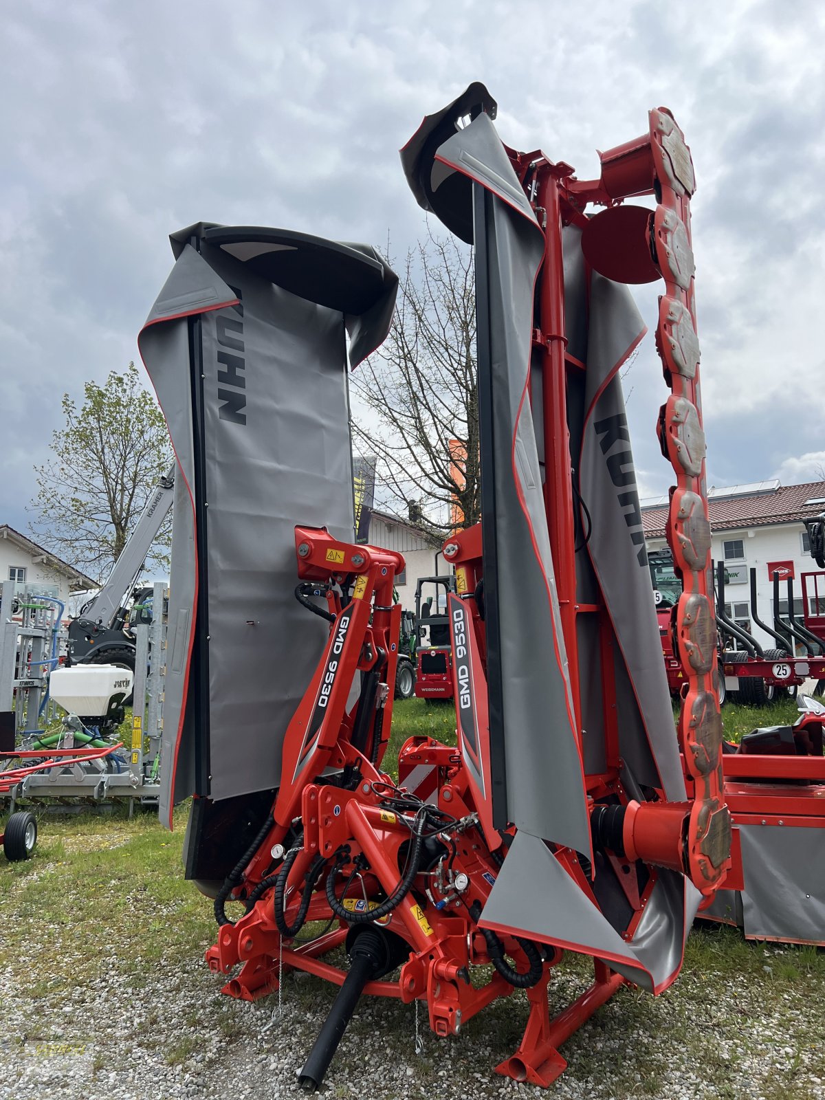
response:
<path id="1" fill-rule="evenodd" d="M 508 151 L 514 168 L 546 226 L 546 255 L 538 286 L 540 328 L 534 333 L 534 346 L 541 356 L 543 375 L 544 493 L 580 744 L 576 617 L 580 614 L 598 617 L 604 627 L 601 645 L 605 653 L 610 639 L 606 629 L 606 608 L 601 603 L 578 605 L 575 600 L 574 503 L 565 410 L 568 371 L 580 371 L 583 364 L 566 353 L 561 228 L 563 222 L 581 224 L 585 220 L 582 210 L 588 201 L 612 206 L 629 195 L 652 193 L 658 185 L 663 205 L 656 212 L 657 249 L 659 266 L 667 273 L 670 241 L 667 234 L 672 231 L 672 226 L 669 229 L 670 221 L 667 222 L 667 232 L 661 226 L 675 212 L 689 232 L 689 195 L 683 187 L 680 193 L 681 185 L 676 186 L 671 178 L 672 173 L 668 175 L 662 167 L 663 132 L 669 139 L 676 135 L 680 148 L 690 158 L 681 131 L 670 116 L 653 111 L 648 134 L 603 155 L 603 178 L 594 183 L 575 180 L 569 165 L 552 164 L 540 152 L 518 154 Z M 622 165 L 618 172 L 617 162 Z M 685 304 L 693 323 L 692 280 L 689 279 L 685 289 L 670 279 L 668 293 Z M 697 408 L 696 381 L 681 380 L 679 385 Z M 666 424 L 678 437 L 676 418 L 667 417 Z M 678 439 L 673 446 L 679 447 Z M 680 474 L 679 492 L 683 493 L 689 486 L 700 499 L 704 498 L 704 463 L 701 476 Z M 703 506 L 706 514 L 706 505 Z M 673 525 L 676 522 L 678 517 Z M 480 988 L 470 983 L 468 971 L 470 966 L 493 961 L 486 935 L 477 925 L 477 914 L 495 882 L 502 851 L 505 850 L 503 843 L 507 840 L 506 835 L 502 836 L 493 828 L 491 807 L 480 800 L 479 785 L 472 777 L 473 769 L 469 767 L 472 762 L 481 772 L 488 770 L 488 746 L 483 737 L 476 746 L 469 746 L 460 735 L 457 751 L 430 738 L 411 738 L 399 755 L 399 790 L 381 770 L 386 748 L 384 732 L 388 730 L 392 717 L 392 691 L 386 693 L 382 734 L 378 735 L 373 717 L 362 743 L 359 747 L 353 745 L 356 706 L 348 710 L 348 697 L 355 673 L 374 670 L 380 653 L 392 654 L 382 669 L 381 680 L 384 685 L 393 684 L 395 680 L 400 612 L 392 606 L 392 588 L 395 574 L 404 568 L 404 560 L 400 554 L 391 551 L 342 543 L 332 539 L 326 530 L 307 528 L 296 529 L 296 552 L 300 578 L 323 585 L 342 585 L 342 592 L 349 591 L 354 578 L 353 594 L 344 598 L 332 588 L 327 593 L 330 610 L 336 616 L 330 639 L 286 733 L 280 789 L 273 806 L 268 834 L 250 859 L 243 881 L 234 891 L 235 899 L 243 900 L 257 890 L 257 900 L 250 904 L 249 911 L 235 924 L 221 926 L 217 943 L 207 952 L 207 960 L 211 969 L 222 975 L 229 975 L 240 965 L 240 971 L 223 988 L 228 994 L 248 1000 L 277 988 L 279 966 L 285 970 L 300 969 L 342 983 L 346 971 L 322 956 L 343 942 L 346 922 L 339 921 L 337 930 L 319 939 L 295 945 L 289 936 L 282 936 L 278 931 L 273 887 L 267 888 L 267 883 L 275 881 L 270 878 L 273 872 L 279 873 L 282 867 L 285 869 L 283 917 L 287 924 L 292 924 L 298 912 L 304 891 L 311 890 L 316 884 L 314 876 L 318 873 L 315 869 L 319 867 L 319 861 L 323 868 L 320 873 L 326 873 L 327 895 L 321 890 L 307 893 L 307 921 L 330 919 L 333 914 L 328 900 L 330 891 L 338 906 L 353 913 L 360 905 L 369 908 L 376 894 L 389 898 L 397 888 L 405 866 L 405 846 L 410 844 L 415 827 L 411 812 L 397 809 L 397 795 L 405 794 L 404 784 L 407 783 L 409 790 L 406 796 L 418 793 L 428 799 L 436 807 L 432 812 L 446 823 L 438 835 L 446 846 L 449 845 L 451 858 L 448 865 L 446 857 L 441 857 L 435 868 L 426 870 L 416 880 L 415 900 L 413 893 L 407 894 L 388 914 L 391 930 L 406 942 L 409 955 L 397 981 L 372 981 L 365 991 L 398 998 L 404 1002 L 426 1001 L 431 1028 L 439 1035 L 457 1034 L 461 1024 L 485 1005 L 513 992 L 513 986 L 498 970 Z M 471 528 L 461 532 L 447 543 L 444 552 L 448 560 L 454 561 L 458 566 L 459 595 L 451 596 L 448 606 L 454 609 L 458 605 L 459 610 L 463 607 L 470 613 L 464 644 L 470 647 L 476 702 L 480 703 L 477 718 L 483 733 L 486 713 L 483 690 L 484 624 L 479 617 L 475 601 L 470 598 L 481 578 L 480 531 Z M 683 562 L 682 568 L 686 570 L 686 563 Z M 694 727 L 697 713 L 705 724 L 704 733 L 710 729 L 710 736 L 704 736 L 701 746 L 705 756 L 700 766 L 693 763 L 698 754 L 685 751 L 691 761 L 690 779 L 695 801 L 639 805 L 630 800 L 619 779 L 618 736 L 609 683 L 605 685 L 607 769 L 603 774 L 586 777 L 586 785 L 593 803 L 618 795 L 626 805 L 624 844 L 629 860 L 641 858 L 648 865 L 686 871 L 700 889 L 712 893 L 729 867 L 729 858 L 725 836 L 718 835 L 724 834 L 728 818 L 722 800 L 721 728 L 713 684 L 715 659 L 712 668 L 705 668 L 703 624 L 696 623 L 696 603 L 707 604 L 704 570 L 694 570 L 686 578 L 685 590 L 685 600 L 679 613 L 681 656 L 690 683 L 680 723 L 684 748 L 696 749 Z M 694 596 L 696 600 L 693 600 Z M 689 606 L 691 600 L 693 603 Z M 700 612 L 703 613 L 703 607 Z M 344 620 L 346 626 L 342 632 Z M 453 632 L 453 658 L 455 645 Z M 454 676 L 458 675 L 455 663 L 453 659 Z M 603 663 L 607 668 L 609 662 Z M 461 688 L 457 680 L 454 689 L 458 697 Z M 349 774 L 350 778 L 354 776 L 356 782 L 349 785 L 331 782 L 323 778 L 329 770 Z M 300 826 L 296 825 L 298 820 Z M 296 844 L 296 829 L 299 827 L 301 838 Z M 712 842 L 710 845 L 708 838 Z M 284 847 L 289 843 L 296 853 L 292 866 L 284 860 Z M 557 849 L 556 856 L 579 887 L 595 901 L 576 854 Z M 626 937 L 632 936 L 647 895 L 652 890 L 656 866 L 650 867 L 650 872 L 641 897 L 635 880 L 623 882 L 632 911 Z M 277 887 L 274 889 L 277 893 Z M 529 969 L 530 959 L 522 942 L 507 928 L 496 931 L 505 954 L 515 961 L 516 968 L 521 972 L 526 967 Z M 595 975 L 591 988 L 561 1015 L 551 1020 L 547 985 L 550 971 L 561 956 L 559 946 L 544 947 L 540 977 L 528 993 L 530 1008 L 522 1042 L 518 1050 L 497 1067 L 498 1072 L 517 1080 L 549 1085 L 565 1066 L 558 1046 L 624 981 L 605 963 L 594 960 Z M 675 978 L 676 972 L 664 986 Z"/>

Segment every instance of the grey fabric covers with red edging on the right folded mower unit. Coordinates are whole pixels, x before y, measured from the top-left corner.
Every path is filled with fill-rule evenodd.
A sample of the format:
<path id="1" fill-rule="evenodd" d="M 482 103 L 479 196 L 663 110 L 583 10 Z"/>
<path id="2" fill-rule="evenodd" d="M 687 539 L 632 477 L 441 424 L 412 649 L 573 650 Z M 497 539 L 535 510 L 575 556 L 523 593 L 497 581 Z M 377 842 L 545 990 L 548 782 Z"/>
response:
<path id="1" fill-rule="evenodd" d="M 604 770 L 604 696 L 613 690 L 605 682 L 615 679 L 626 768 L 638 783 L 669 799 L 685 796 L 618 378 L 645 329 L 626 287 L 598 276 L 586 285 L 581 234 L 565 230 L 568 339 L 586 364 L 566 411 L 580 493 L 593 517 L 588 554 L 576 556 L 576 600 L 591 603 L 601 591 L 614 631 L 607 679 L 595 624 L 590 628 L 580 620 L 582 755 L 542 493 L 541 403 L 536 400 L 531 416 L 528 389 L 543 233 L 493 127 L 494 106 L 483 86 L 471 86 L 425 119 L 402 152 L 419 204 L 474 241 L 477 256 L 480 403 L 492 403 L 487 433 L 482 431 L 491 756 L 495 761 L 501 738 L 498 768 L 506 782 L 499 785 L 507 818 L 518 826 L 482 924 L 595 955 L 630 980 L 660 990 L 679 970 L 698 894 L 681 875 L 657 869 L 642 919 L 625 939 L 631 911 L 608 861 L 593 853 L 584 783 L 585 772 Z M 538 397 L 536 367 L 532 383 Z M 487 466 L 485 448 L 493 455 Z M 492 485 L 484 484 L 485 470 L 492 470 Z M 496 618 L 498 631 L 491 629 Z M 493 782 L 495 790 L 495 772 Z M 596 904 L 550 844 L 593 862 Z"/>

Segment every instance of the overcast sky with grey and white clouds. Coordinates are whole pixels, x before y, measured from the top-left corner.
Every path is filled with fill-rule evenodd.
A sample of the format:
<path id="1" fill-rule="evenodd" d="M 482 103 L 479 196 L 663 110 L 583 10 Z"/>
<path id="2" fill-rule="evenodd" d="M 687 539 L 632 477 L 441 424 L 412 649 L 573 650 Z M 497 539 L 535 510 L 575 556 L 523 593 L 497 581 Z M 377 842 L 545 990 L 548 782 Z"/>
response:
<path id="1" fill-rule="evenodd" d="M 64 392 L 135 338 L 198 220 L 403 254 L 397 150 L 471 80 L 519 148 L 597 174 L 668 106 L 693 151 L 708 481 L 825 463 L 825 14 L 812 0 L 23 0 L 0 23 L 0 522 L 25 529 Z M 651 326 L 657 286 L 639 305 Z M 818 333 L 818 336 L 817 336 Z M 628 378 L 642 494 L 663 492 L 652 334 Z"/>

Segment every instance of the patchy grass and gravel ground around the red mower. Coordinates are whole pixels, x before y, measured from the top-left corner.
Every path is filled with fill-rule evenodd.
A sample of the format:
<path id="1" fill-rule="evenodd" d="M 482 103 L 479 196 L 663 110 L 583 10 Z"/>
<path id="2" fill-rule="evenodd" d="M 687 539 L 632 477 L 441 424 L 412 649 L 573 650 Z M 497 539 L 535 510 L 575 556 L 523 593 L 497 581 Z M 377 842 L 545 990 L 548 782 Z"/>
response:
<path id="1" fill-rule="evenodd" d="M 729 705 L 726 735 L 738 739 L 795 714 L 790 702 L 766 711 Z M 413 734 L 450 739 L 454 715 L 450 706 L 410 700 L 396 703 L 393 725 L 387 763 Z M 230 1096 L 238 1081 L 251 1094 L 270 1094 L 272 1078 L 255 1084 L 267 1066 L 271 1075 L 294 1081 L 294 1067 L 334 991 L 311 977 L 288 977 L 286 1046 L 278 1028 L 264 1030 L 276 994 L 254 1004 L 220 994 L 221 980 L 202 964 L 216 936 L 211 902 L 183 876 L 185 821 L 185 806 L 175 815 L 174 833 L 153 814 L 129 822 L 120 809 L 107 815 L 43 814 L 34 858 L 0 860 L 0 1096 L 64 1096 L 57 1084 L 42 1084 L 48 1081 L 50 1058 L 66 1063 L 55 1081 L 77 1071 L 86 1076 L 87 1100 Z M 551 982 L 553 1005 L 561 1009 L 574 998 L 587 974 L 587 960 L 568 955 Z M 524 994 L 491 1005 L 455 1041 L 427 1033 L 420 1057 L 413 1053 L 411 1012 L 398 1002 L 364 1001 L 333 1064 L 339 1068 L 330 1072 L 328 1094 L 498 1094 L 505 1082 L 492 1070 L 520 1040 Z M 564 1044 L 570 1068 L 553 1094 L 822 1098 L 824 1035 L 823 952 L 750 944 L 730 928 L 696 928 L 670 991 L 653 999 L 623 989 Z M 82 1054 L 66 1054 L 67 1045 Z M 371 1089 L 371 1075 L 378 1071 L 370 1060 L 375 1050 L 384 1063 L 411 1067 L 407 1089 Z M 273 1058 L 279 1060 L 267 1062 Z M 125 1077 L 110 1079 L 112 1067 L 138 1075 L 131 1091 Z M 141 1091 L 140 1067 L 154 1075 L 146 1078 L 157 1082 L 154 1092 L 150 1085 Z M 459 1091 L 444 1078 L 446 1067 Z M 176 1082 L 187 1080 L 196 1091 L 186 1093 L 185 1084 L 175 1091 Z M 293 1087 L 284 1086 L 290 1092 Z"/>

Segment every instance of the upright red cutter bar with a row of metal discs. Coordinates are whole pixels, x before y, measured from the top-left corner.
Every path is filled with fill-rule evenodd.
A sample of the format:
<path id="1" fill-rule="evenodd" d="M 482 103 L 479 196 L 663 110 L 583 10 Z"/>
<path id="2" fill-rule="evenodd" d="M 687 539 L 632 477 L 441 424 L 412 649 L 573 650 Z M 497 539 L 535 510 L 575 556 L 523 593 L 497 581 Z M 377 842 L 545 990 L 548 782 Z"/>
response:
<path id="1" fill-rule="evenodd" d="M 650 145 L 659 198 L 651 250 L 666 284 L 656 344 L 671 388 L 659 415 L 659 442 L 676 475 L 668 543 L 682 578 L 671 620 L 673 651 L 685 679 L 679 739 L 695 795 L 686 847 L 691 879 L 700 890 L 711 891 L 729 866 L 730 814 L 723 794 L 716 618 L 708 580 L 711 525 L 691 244 L 695 178 L 684 134 L 664 108 L 650 112 Z"/>

